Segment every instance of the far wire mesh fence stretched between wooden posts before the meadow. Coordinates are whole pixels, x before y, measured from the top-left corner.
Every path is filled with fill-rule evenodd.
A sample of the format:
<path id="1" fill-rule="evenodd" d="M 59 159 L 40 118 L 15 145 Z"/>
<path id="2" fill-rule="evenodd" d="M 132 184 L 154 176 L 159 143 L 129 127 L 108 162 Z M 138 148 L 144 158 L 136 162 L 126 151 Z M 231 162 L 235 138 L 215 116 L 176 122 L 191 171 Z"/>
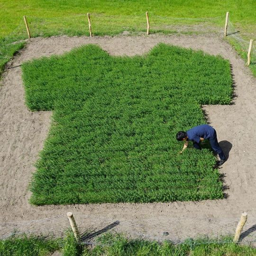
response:
<path id="1" fill-rule="evenodd" d="M 86 14 L 77 14 L 66 17 L 40 18 L 26 16 L 31 37 L 48 37 L 56 35 L 89 36 Z M 108 16 L 91 13 L 92 32 L 97 35 L 117 35 L 125 30 L 128 32 L 146 32 L 146 15 L 135 16 Z M 184 34 L 219 34 L 223 29 L 216 25 L 221 17 L 214 18 L 175 18 L 167 16 L 149 16 L 151 33 L 166 32 Z M 185 21 L 185 22 L 183 22 Z M 199 26 L 196 26 L 199 25 Z M 229 27 L 228 27 L 229 28 Z M 18 27 L 9 36 L 16 34 L 27 37 L 27 31 L 22 20 Z M 24 38 L 24 39 L 25 39 Z"/>

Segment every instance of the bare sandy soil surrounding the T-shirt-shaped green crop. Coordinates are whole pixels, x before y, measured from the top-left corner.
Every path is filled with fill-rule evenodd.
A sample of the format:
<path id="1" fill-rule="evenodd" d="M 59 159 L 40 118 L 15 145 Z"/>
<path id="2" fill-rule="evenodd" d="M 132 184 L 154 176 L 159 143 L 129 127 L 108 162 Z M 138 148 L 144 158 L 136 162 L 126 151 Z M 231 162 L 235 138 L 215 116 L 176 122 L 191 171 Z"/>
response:
<path id="1" fill-rule="evenodd" d="M 210 124 L 217 130 L 224 153 L 229 155 L 229 160 L 219 170 L 229 188 L 225 191 L 227 198 L 146 204 L 29 205 L 27 186 L 47 136 L 51 112 L 31 112 L 27 109 L 19 65 L 33 58 L 62 54 L 89 43 L 98 44 L 111 55 L 136 55 L 147 52 L 158 42 L 201 49 L 230 60 L 236 94 L 233 104 L 203 107 Z M 119 220 L 119 230 L 149 236 L 161 236 L 163 231 L 168 231 L 170 235 L 166 238 L 233 232 L 244 210 L 248 213 L 245 230 L 256 224 L 256 79 L 245 67 L 244 61 L 221 38 L 159 35 L 33 38 L 7 67 L 0 87 L 0 222 L 42 219 L 73 211 L 81 229 L 101 229 Z M 66 221 L 65 217 L 58 218 L 59 229 Z M 27 229 L 30 224 L 26 224 Z M 5 227 L 8 227 L 7 224 Z M 38 229 L 40 227 L 42 225 Z M 250 233 L 254 230 L 249 229 Z"/>

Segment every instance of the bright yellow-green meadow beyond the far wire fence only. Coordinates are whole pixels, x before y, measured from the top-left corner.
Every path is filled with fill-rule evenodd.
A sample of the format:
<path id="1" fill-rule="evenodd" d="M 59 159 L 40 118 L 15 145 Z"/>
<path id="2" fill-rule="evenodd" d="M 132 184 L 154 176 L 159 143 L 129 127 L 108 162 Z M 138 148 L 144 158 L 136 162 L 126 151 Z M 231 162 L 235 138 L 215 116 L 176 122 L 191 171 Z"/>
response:
<path id="1" fill-rule="evenodd" d="M 87 12 L 98 14 L 94 19 L 95 26 L 109 27 L 112 17 L 119 20 L 115 23 L 116 30 L 123 27 L 136 25 L 133 17 L 139 23 L 145 23 L 145 12 L 149 11 L 153 23 L 157 21 L 168 25 L 168 17 L 182 18 L 176 22 L 179 24 L 196 23 L 193 18 L 216 18 L 214 24 L 224 27 L 225 14 L 230 12 L 230 20 L 236 27 L 247 33 L 254 33 L 256 30 L 254 0 L 1 0 L 0 2 L 0 37 L 8 35 L 20 22 L 23 22 L 23 15 L 36 16 L 39 18 L 66 17 Z M 160 18 L 163 17 L 163 18 Z M 93 15 L 92 15 L 93 18 Z M 166 18 L 166 19 L 165 19 Z M 183 19 L 187 18 L 187 20 Z M 192 18 L 192 19 L 191 19 Z M 159 20 L 160 19 L 160 20 Z M 191 20 L 189 20 L 191 19 Z M 101 25 L 100 25 L 101 24 Z"/>

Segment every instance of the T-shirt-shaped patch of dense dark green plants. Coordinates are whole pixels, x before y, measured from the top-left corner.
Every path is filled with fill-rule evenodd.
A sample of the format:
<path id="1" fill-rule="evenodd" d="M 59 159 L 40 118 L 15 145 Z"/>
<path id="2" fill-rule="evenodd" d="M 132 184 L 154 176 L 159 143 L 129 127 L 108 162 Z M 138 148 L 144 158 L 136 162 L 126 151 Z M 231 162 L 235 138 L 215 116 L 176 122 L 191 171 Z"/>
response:
<path id="1" fill-rule="evenodd" d="M 223 198 L 215 157 L 176 141 L 205 123 L 200 104 L 229 104 L 229 61 L 159 44 L 142 56 L 87 45 L 22 65 L 30 110 L 54 110 L 30 183 L 43 204 Z"/>

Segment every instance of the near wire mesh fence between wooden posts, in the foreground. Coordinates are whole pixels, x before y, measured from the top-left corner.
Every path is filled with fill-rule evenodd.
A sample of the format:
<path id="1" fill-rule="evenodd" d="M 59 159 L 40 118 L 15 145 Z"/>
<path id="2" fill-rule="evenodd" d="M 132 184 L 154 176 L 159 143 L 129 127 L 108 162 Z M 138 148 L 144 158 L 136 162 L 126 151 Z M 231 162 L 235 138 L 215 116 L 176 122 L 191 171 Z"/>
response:
<path id="1" fill-rule="evenodd" d="M 193 240 L 196 244 L 230 243 L 239 220 L 239 218 L 122 220 L 82 214 L 74 215 L 74 217 L 79 230 L 78 242 L 85 245 L 101 246 L 113 243 L 110 234 L 124 234 L 128 239 L 146 239 L 160 243 L 165 240 L 174 244 L 181 244 L 188 240 Z M 248 219 L 249 223 L 244 227 L 239 241 L 250 245 L 256 242 L 256 217 L 248 216 Z M 152 223 L 151 226 L 146 224 L 148 221 Z M 201 235 L 198 235 L 198 226 L 201 226 L 201 231 L 204 231 Z M 46 219 L 2 222 L 0 223 L 0 239 L 21 234 L 64 238 L 69 229 L 70 223 L 66 214 Z"/>

